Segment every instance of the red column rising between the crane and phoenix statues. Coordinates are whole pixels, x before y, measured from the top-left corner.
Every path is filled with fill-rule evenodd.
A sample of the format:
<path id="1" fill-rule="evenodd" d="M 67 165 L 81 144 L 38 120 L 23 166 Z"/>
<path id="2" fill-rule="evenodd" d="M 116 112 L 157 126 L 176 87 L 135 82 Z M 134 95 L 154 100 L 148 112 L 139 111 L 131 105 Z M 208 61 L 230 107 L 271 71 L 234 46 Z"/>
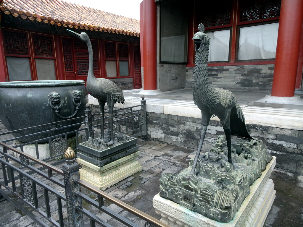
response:
<path id="1" fill-rule="evenodd" d="M 143 0 L 143 76 L 144 90 L 157 89 L 157 5 Z"/>

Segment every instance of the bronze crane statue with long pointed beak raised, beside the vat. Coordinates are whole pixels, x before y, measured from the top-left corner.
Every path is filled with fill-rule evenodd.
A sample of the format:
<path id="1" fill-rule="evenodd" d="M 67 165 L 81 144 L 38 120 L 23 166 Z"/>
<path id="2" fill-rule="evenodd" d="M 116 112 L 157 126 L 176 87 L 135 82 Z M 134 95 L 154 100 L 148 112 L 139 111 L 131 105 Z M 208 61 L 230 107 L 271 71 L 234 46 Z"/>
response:
<path id="1" fill-rule="evenodd" d="M 88 64 L 88 74 L 86 81 L 86 88 L 93 97 L 98 99 L 100 110 L 101 110 L 101 135 L 102 140 L 104 139 L 104 106 L 105 103 L 108 106 L 109 110 L 109 119 L 110 119 L 110 131 L 111 131 L 111 140 L 106 143 L 107 145 L 112 145 L 114 143 L 114 130 L 113 130 L 113 112 L 114 105 L 116 102 L 125 103 L 125 99 L 123 96 L 122 90 L 112 81 L 105 78 L 96 78 L 93 72 L 93 50 L 92 44 L 88 35 L 85 32 L 81 32 L 78 34 L 74 31 L 66 29 L 72 35 L 78 37 L 80 40 L 86 42 L 88 47 L 88 56 L 89 56 L 89 64 Z"/>

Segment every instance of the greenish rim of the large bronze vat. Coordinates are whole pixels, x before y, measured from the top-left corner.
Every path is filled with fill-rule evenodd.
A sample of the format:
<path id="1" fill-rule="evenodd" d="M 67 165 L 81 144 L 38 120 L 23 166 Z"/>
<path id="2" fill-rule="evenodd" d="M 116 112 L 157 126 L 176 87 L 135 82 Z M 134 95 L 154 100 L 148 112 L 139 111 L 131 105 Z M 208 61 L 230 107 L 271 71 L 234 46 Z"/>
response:
<path id="1" fill-rule="evenodd" d="M 1 82 L 0 87 L 61 87 L 85 84 L 85 81 L 50 80 L 50 81 L 8 81 Z"/>

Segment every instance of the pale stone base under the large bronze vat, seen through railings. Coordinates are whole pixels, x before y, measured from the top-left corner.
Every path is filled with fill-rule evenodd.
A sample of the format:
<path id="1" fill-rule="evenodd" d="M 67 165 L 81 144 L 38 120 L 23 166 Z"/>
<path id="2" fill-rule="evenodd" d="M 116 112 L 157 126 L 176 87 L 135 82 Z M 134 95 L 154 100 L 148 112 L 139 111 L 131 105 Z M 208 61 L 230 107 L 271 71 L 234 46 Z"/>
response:
<path id="1" fill-rule="evenodd" d="M 81 142 L 82 142 L 82 137 L 81 137 L 81 134 L 79 133 L 78 134 L 78 143 L 81 143 Z M 68 147 L 75 149 L 76 148 L 76 137 L 73 136 L 71 138 L 68 138 L 67 143 L 68 143 Z M 18 146 L 18 145 L 22 145 L 22 144 L 23 143 L 20 142 L 19 140 L 13 141 L 13 146 Z M 59 154 L 59 153 L 64 153 L 67 149 L 67 147 L 65 145 L 65 138 L 59 137 L 59 138 L 52 140 L 51 147 L 52 147 L 52 150 L 50 151 L 49 143 L 39 143 L 38 144 L 40 160 L 50 158 L 51 157 L 50 152 L 52 153 L 52 156 L 55 156 L 56 154 Z M 18 147 L 17 149 L 21 150 L 20 147 Z M 23 146 L 23 152 L 30 156 L 38 158 L 37 154 L 36 154 L 36 145 L 35 144 L 28 144 L 28 145 Z M 15 153 L 15 157 L 19 158 L 19 154 Z M 59 159 L 60 158 L 61 157 L 59 157 Z M 30 161 L 30 163 L 31 163 L 31 161 Z"/>

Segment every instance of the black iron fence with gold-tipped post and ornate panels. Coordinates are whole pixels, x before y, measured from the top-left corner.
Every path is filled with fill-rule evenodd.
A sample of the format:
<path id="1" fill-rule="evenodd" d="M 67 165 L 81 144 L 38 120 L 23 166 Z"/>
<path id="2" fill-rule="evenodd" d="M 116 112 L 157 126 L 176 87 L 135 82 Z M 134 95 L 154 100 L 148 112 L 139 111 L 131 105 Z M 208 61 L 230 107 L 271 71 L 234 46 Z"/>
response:
<path id="1" fill-rule="evenodd" d="M 141 105 L 116 111 L 114 121 L 119 123 L 123 133 L 146 137 L 144 97 Z M 93 122 L 98 121 L 95 117 L 97 115 L 92 114 L 87 104 L 85 116 L 76 119 L 78 123 L 62 126 L 62 123 L 69 121 L 64 120 L 32 127 L 35 128 L 34 133 L 28 133 L 32 128 L 1 133 L 0 136 L 18 133 L 21 133 L 21 136 L 0 142 L 0 193 L 40 226 L 80 227 L 83 226 L 83 220 L 88 219 L 91 226 L 111 226 L 96 215 L 96 209 L 126 226 L 140 226 L 105 206 L 106 200 L 142 219 L 143 222 L 140 223 L 144 223 L 144 226 L 168 227 L 80 179 L 81 166 L 75 162 L 74 150 L 78 150 L 78 143 L 94 137 L 98 124 L 93 125 Z M 47 130 L 39 131 L 39 128 Z M 58 133 L 62 128 L 73 130 Z M 42 137 L 35 139 L 36 135 Z M 16 142 L 22 138 L 33 139 L 32 142 Z M 47 144 L 48 149 L 41 148 L 45 146 L 42 144 Z M 29 146 L 32 155 L 28 154 Z M 48 152 L 42 157 L 41 150 Z M 94 193 L 96 199 L 92 199 L 92 196 L 85 192 Z M 89 206 L 82 206 L 83 201 Z M 94 212 L 89 207 L 93 208 Z"/>

